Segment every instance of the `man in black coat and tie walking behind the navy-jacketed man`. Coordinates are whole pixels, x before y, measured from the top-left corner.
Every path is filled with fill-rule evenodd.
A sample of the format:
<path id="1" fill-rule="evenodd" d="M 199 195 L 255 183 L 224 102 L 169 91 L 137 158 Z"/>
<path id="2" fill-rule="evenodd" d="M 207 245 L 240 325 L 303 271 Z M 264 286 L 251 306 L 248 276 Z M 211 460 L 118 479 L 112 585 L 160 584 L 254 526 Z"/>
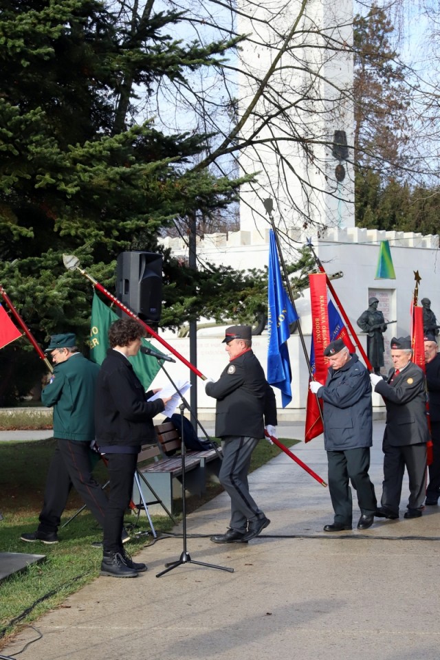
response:
<path id="1" fill-rule="evenodd" d="M 384 397 L 386 405 L 382 501 L 375 515 L 391 520 L 399 518 L 405 467 L 410 497 L 404 518 L 419 518 L 425 499 L 426 443 L 429 440 L 426 378 L 423 370 L 411 362 L 411 357 L 411 338 L 393 337 L 391 359 L 394 369 L 388 373 L 388 379 L 370 374 L 374 391 Z"/>

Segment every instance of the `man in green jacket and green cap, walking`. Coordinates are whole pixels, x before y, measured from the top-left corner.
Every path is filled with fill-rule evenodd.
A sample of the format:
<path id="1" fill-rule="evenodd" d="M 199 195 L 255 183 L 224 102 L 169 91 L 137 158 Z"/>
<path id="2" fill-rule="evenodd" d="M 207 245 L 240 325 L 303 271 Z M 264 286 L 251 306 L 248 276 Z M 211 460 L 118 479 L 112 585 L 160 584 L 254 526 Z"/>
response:
<path id="1" fill-rule="evenodd" d="M 21 540 L 50 544 L 58 542 L 57 531 L 72 486 L 100 527 L 104 526 L 107 497 L 91 476 L 90 443 L 95 439 L 94 400 L 99 366 L 78 352 L 73 333 L 52 335 L 45 353 L 50 353 L 55 367 L 41 401 L 54 408 L 57 445 L 47 474 L 39 527 L 23 533 Z"/>

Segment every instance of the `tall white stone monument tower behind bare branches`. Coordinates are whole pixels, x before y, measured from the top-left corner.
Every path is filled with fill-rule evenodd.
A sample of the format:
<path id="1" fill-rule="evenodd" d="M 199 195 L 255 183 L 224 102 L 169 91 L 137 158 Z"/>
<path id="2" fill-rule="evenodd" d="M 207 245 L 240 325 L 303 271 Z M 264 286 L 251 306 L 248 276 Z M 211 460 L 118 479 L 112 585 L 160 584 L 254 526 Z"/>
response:
<path id="1" fill-rule="evenodd" d="M 241 230 L 263 228 L 267 197 L 284 230 L 353 227 L 352 0 L 239 0 L 238 8 L 237 32 L 249 35 L 240 139 L 257 141 L 239 164 L 259 173 L 241 190 Z"/>

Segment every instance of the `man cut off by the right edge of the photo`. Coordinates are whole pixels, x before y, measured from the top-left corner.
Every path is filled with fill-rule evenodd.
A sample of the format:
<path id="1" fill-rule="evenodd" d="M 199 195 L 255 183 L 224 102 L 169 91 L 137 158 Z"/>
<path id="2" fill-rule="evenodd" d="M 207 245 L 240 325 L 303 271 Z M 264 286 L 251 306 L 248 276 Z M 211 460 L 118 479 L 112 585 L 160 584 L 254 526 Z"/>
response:
<path id="1" fill-rule="evenodd" d="M 440 355 L 437 353 L 437 340 L 432 333 L 426 333 L 424 340 L 432 440 L 432 463 L 428 465 L 429 483 L 425 504 L 435 506 L 440 496 Z"/>

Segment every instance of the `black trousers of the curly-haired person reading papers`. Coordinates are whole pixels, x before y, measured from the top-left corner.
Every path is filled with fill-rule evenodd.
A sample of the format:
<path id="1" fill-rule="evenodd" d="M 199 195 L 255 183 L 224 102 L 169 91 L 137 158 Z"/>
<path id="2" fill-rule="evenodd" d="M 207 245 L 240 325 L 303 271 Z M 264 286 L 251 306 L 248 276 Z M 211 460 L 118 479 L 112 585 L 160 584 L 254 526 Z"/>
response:
<path id="1" fill-rule="evenodd" d="M 104 520 L 104 552 L 119 552 L 124 514 L 133 493 L 137 454 L 105 454 L 110 491 Z"/>

